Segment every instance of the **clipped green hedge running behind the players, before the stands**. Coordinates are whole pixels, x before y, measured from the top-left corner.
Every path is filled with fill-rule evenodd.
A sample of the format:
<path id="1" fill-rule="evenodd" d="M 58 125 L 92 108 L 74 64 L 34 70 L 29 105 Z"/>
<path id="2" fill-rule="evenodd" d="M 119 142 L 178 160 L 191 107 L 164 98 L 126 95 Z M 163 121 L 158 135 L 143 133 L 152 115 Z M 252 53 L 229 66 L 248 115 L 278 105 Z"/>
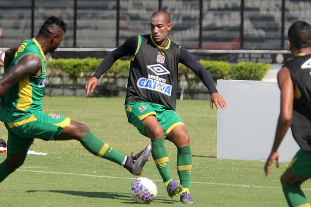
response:
<path id="1" fill-rule="evenodd" d="M 63 77 L 67 74 L 76 84 L 78 78 L 90 78 L 102 60 L 100 58 L 52 59 L 47 62 L 47 71 L 50 76 Z M 129 60 L 117 60 L 103 77 L 112 84 L 117 78 L 126 77 L 129 62 Z M 261 80 L 270 68 L 270 65 L 266 63 L 240 62 L 230 65 L 225 61 L 199 60 L 199 62 L 209 71 L 215 81 L 217 79 Z M 190 87 L 195 88 L 200 79 L 186 66 L 179 64 L 178 67 L 179 75 L 184 76 Z"/>

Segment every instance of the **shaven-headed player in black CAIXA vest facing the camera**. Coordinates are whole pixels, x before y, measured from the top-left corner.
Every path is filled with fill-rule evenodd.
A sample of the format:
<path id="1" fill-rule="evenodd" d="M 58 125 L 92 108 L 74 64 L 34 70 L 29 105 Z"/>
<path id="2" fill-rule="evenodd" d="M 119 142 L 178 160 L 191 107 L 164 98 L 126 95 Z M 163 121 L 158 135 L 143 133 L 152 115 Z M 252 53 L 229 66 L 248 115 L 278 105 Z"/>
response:
<path id="1" fill-rule="evenodd" d="M 116 50 L 109 52 L 92 78 L 86 82 L 86 96 L 93 91 L 98 79 L 114 62 L 125 55 L 132 55 L 125 98 L 128 121 L 138 131 L 151 138 L 152 156 L 170 197 L 181 192 L 180 201 L 193 203 L 190 196 L 192 155 L 190 138 L 184 121 L 176 114 L 178 64 L 193 70 L 211 94 L 210 107 L 225 109 L 224 98 L 218 93 L 208 71 L 183 47 L 168 38 L 172 29 L 170 14 L 156 11 L 151 16 L 151 34 L 130 37 Z M 170 174 L 169 157 L 164 140 L 177 147 L 177 172 L 181 185 Z"/>

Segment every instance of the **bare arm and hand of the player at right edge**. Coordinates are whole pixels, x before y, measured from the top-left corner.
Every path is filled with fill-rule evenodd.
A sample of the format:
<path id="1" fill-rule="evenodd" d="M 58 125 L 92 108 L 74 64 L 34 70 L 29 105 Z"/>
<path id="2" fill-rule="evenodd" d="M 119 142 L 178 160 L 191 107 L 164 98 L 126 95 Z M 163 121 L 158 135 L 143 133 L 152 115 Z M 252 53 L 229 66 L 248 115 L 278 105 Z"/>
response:
<path id="1" fill-rule="evenodd" d="M 294 85 L 291 79 L 289 69 L 283 67 L 277 74 L 277 82 L 281 91 L 281 109 L 277 120 L 275 140 L 271 153 L 266 161 L 264 171 L 266 176 L 269 175 L 271 166 L 276 161 L 276 167 L 279 166 L 278 162 L 278 148 L 286 135 L 292 123 L 293 117 L 293 100 L 294 100 Z"/>

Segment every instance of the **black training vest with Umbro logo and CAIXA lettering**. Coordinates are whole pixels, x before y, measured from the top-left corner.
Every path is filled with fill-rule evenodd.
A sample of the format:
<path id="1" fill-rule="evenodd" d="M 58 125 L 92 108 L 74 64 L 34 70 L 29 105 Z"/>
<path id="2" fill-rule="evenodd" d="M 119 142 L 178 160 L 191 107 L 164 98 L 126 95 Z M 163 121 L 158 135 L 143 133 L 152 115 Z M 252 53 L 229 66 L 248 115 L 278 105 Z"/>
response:
<path id="1" fill-rule="evenodd" d="M 178 86 L 179 45 L 169 40 L 163 48 L 151 35 L 138 35 L 131 59 L 125 104 L 149 102 L 175 110 Z"/>

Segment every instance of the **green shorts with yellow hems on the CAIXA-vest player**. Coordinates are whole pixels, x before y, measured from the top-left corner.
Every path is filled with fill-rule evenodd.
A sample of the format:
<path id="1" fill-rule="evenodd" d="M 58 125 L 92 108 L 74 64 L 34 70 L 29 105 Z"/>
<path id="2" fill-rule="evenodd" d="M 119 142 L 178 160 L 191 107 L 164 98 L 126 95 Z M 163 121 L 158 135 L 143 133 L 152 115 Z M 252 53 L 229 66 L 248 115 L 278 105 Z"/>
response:
<path id="1" fill-rule="evenodd" d="M 125 113 L 128 122 L 133 124 L 140 134 L 148 137 L 145 132 L 145 124 L 143 120 L 153 115 L 163 128 L 164 138 L 177 125 L 185 125 L 184 121 L 177 115 L 177 113 L 161 104 L 147 103 L 147 102 L 130 102 L 125 104 Z"/>

